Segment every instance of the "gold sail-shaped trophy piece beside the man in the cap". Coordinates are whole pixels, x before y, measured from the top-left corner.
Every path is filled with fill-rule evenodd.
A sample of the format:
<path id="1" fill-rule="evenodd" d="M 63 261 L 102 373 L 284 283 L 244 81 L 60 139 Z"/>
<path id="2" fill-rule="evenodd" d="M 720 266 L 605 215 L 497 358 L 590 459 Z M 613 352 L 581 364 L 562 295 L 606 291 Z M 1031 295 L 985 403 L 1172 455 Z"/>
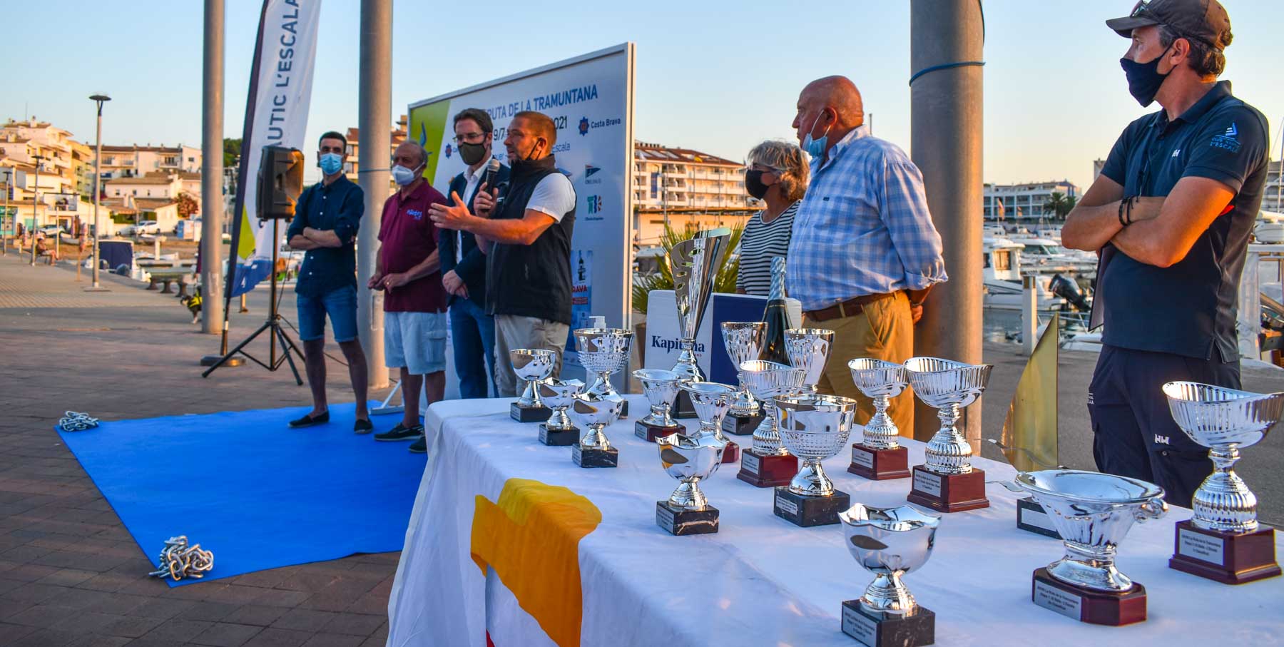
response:
<path id="1" fill-rule="evenodd" d="M 1052 316 L 1026 362 L 1003 421 L 1003 454 L 1013 467 L 1043 470 L 1061 462 L 1057 447 L 1057 350 L 1061 317 Z"/>

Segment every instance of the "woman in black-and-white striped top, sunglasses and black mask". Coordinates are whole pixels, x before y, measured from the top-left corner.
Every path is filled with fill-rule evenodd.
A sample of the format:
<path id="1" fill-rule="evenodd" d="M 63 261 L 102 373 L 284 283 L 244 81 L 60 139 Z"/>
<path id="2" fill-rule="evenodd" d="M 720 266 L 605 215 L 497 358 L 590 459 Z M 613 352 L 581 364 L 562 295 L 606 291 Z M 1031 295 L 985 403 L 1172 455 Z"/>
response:
<path id="1" fill-rule="evenodd" d="M 794 213 L 806 193 L 806 155 L 797 144 L 764 141 L 749 151 L 745 190 L 764 200 L 767 208 L 755 213 L 740 237 L 740 275 L 736 291 L 767 297 L 772 289 L 772 258 L 790 249 Z"/>

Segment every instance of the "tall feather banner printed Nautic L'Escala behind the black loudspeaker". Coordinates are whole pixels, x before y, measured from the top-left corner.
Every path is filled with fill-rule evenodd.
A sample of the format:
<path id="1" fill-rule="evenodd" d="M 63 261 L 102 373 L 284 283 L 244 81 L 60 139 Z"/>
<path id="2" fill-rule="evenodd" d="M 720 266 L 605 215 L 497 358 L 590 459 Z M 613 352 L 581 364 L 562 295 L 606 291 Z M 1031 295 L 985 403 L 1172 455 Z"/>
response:
<path id="1" fill-rule="evenodd" d="M 312 63 L 317 50 L 317 19 L 321 0 L 263 0 L 250 71 L 241 159 L 236 171 L 236 203 L 232 213 L 232 254 L 227 299 L 241 295 L 267 279 L 272 263 L 272 223 L 254 213 L 258 164 L 263 146 L 309 150 L 303 134 L 308 128 L 312 100 Z M 285 234 L 279 227 L 279 235 Z"/>

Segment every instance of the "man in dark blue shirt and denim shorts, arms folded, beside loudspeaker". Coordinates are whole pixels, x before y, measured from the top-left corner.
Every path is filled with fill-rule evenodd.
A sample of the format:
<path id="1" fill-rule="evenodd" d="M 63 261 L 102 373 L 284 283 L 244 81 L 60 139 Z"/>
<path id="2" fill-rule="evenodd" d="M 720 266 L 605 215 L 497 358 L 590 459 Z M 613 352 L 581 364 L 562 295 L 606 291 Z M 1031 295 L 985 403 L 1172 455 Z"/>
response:
<path id="1" fill-rule="evenodd" d="M 348 362 L 348 377 L 357 397 L 353 431 L 374 430 L 366 410 L 366 353 L 357 339 L 357 227 L 365 212 L 365 194 L 343 175 L 348 141 L 338 132 L 321 135 L 317 166 L 320 182 L 299 195 L 294 221 L 286 231 L 291 249 L 304 249 L 303 266 L 294 285 L 299 308 L 299 340 L 303 341 L 312 411 L 291 420 L 291 427 L 330 421 L 325 395 L 325 317 L 330 316 L 334 340 Z"/>

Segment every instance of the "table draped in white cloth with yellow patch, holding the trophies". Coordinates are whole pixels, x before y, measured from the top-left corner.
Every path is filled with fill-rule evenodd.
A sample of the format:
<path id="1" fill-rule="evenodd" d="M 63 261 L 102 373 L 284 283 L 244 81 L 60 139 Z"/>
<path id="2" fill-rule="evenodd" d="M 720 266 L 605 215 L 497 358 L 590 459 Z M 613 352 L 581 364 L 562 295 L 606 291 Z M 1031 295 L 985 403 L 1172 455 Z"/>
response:
<path id="1" fill-rule="evenodd" d="M 646 411 L 643 398 L 629 399 L 630 411 Z M 840 632 L 838 614 L 872 576 L 847 553 L 840 525 L 777 519 L 772 490 L 737 480 L 737 466 L 725 465 L 701 484 L 720 510 L 719 531 L 672 537 L 655 525 L 655 502 L 677 481 L 655 445 L 633 435 L 637 415 L 607 427 L 618 469 L 579 469 L 570 448 L 544 447 L 534 424 L 511 421 L 508 402 L 429 408 L 430 458 L 389 600 L 388 644 L 858 644 Z M 907 445 L 910 465 L 921 463 L 923 444 Z M 840 454 L 824 466 L 853 502 L 904 503 L 908 479 L 867 481 L 846 472 L 847 461 Z M 975 465 L 990 481 L 1014 475 L 994 461 Z M 1148 589 L 1145 623 L 1088 625 L 1037 607 L 1031 573 L 1061 557 L 1062 543 L 1018 530 L 1017 496 L 999 483 L 987 496 L 989 508 L 944 515 L 932 558 L 905 578 L 936 612 L 937 644 L 1284 641 L 1284 578 L 1231 587 L 1167 567 L 1174 524 L 1190 516 L 1176 507 L 1134 525 L 1121 544 L 1120 570 Z M 596 528 L 586 499 L 600 513 Z M 501 516 L 507 521 L 496 524 Z"/>

